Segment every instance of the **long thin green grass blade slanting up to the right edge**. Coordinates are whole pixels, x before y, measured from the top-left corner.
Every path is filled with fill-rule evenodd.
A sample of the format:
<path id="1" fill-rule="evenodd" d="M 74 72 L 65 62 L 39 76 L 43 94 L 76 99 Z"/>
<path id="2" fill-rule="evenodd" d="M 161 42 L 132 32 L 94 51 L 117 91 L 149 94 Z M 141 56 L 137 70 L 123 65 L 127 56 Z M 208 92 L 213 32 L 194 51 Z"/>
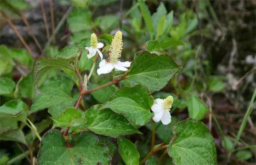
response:
<path id="1" fill-rule="evenodd" d="M 250 104 L 249 104 L 249 106 L 248 106 L 248 108 L 247 108 L 247 111 L 246 111 L 246 113 L 245 113 L 245 116 L 243 117 L 243 122 L 242 122 L 242 124 L 240 125 L 238 134 L 237 134 L 237 136 L 236 136 L 235 142 L 234 142 L 233 147 L 232 147 L 232 150 L 236 147 L 236 145 L 237 145 L 237 143 L 238 143 L 238 141 L 239 141 L 239 139 L 240 139 L 240 137 L 241 137 L 241 134 L 242 134 L 243 130 L 245 129 L 245 125 L 246 125 L 246 123 L 247 123 L 248 117 L 249 117 L 250 114 L 252 113 L 252 107 L 253 107 L 253 105 L 256 103 L 256 101 L 254 102 L 255 97 L 256 97 L 256 88 L 254 89 L 254 92 L 253 92 L 253 94 L 252 94 L 252 98 L 251 98 L 251 100 L 250 100 Z M 228 160 L 229 160 L 230 156 L 231 156 L 231 152 L 229 152 L 229 154 L 228 154 Z"/>

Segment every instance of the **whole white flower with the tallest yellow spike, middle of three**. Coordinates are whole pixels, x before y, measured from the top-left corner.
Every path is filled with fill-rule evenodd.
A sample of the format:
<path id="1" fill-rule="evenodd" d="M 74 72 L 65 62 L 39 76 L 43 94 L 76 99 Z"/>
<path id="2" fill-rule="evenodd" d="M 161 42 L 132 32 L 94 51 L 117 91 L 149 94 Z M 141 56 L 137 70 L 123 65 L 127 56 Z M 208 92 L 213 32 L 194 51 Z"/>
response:
<path id="1" fill-rule="evenodd" d="M 126 71 L 127 67 L 130 67 L 131 62 L 121 62 L 119 58 L 122 53 L 122 32 L 117 31 L 115 34 L 111 46 L 109 48 L 108 60 L 102 60 L 99 64 L 99 69 L 97 70 L 98 75 L 110 73 L 114 68 L 115 70 Z"/>

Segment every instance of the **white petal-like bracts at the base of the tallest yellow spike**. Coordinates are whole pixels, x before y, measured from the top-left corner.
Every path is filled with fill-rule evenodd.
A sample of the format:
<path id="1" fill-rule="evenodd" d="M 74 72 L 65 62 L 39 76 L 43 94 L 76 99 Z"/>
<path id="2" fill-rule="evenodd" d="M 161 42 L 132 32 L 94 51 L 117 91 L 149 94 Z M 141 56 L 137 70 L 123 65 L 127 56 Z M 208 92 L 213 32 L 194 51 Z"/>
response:
<path id="1" fill-rule="evenodd" d="M 107 73 L 110 73 L 114 68 L 116 70 L 126 71 L 128 70 L 126 67 L 130 67 L 130 65 L 131 65 L 131 62 L 129 61 L 126 61 L 126 62 L 117 61 L 117 63 L 110 63 L 104 59 L 100 61 L 100 64 L 99 64 L 100 68 L 97 70 L 97 73 L 98 75 L 107 74 Z"/>

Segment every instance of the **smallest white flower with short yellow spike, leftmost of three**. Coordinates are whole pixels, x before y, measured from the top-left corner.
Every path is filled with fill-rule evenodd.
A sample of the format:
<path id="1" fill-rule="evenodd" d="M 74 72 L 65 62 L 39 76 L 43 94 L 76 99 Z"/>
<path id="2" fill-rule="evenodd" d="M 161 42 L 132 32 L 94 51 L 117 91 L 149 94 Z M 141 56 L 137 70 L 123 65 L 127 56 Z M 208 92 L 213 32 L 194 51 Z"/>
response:
<path id="1" fill-rule="evenodd" d="M 100 59 L 103 59 L 103 55 L 100 52 L 100 48 L 102 48 L 104 44 L 101 42 L 98 43 L 96 35 L 93 33 L 91 34 L 91 47 L 85 47 L 89 51 L 89 54 L 87 54 L 88 59 L 96 55 L 96 52 L 100 55 Z"/>

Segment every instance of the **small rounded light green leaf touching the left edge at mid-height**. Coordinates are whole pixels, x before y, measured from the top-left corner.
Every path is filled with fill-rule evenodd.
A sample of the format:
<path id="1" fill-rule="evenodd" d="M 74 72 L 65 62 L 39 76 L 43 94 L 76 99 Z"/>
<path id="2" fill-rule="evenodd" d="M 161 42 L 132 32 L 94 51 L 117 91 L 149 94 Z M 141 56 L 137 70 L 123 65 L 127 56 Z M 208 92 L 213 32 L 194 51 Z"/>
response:
<path id="1" fill-rule="evenodd" d="M 8 77 L 0 78 L 0 95 L 11 94 L 15 88 L 15 83 Z"/>

